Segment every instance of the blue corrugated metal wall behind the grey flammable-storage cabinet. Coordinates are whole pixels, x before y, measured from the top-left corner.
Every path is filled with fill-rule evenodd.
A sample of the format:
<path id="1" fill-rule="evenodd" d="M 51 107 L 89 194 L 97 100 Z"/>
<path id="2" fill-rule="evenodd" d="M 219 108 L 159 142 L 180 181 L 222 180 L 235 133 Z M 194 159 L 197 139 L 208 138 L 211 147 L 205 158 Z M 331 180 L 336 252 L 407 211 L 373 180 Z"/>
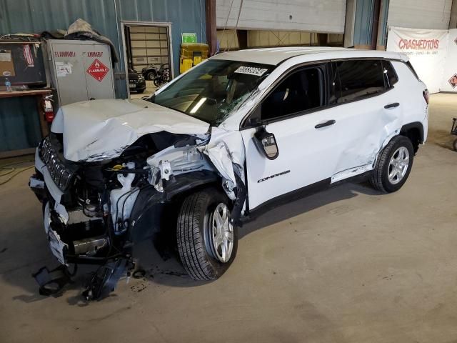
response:
<path id="1" fill-rule="evenodd" d="M 76 19 L 88 21 L 113 41 L 124 72 L 121 21 L 170 22 L 174 70 L 179 72 L 182 32 L 196 32 L 206 42 L 205 0 L 0 0 L 0 36 L 67 29 Z M 116 96 L 126 97 L 125 80 L 116 81 Z"/>

